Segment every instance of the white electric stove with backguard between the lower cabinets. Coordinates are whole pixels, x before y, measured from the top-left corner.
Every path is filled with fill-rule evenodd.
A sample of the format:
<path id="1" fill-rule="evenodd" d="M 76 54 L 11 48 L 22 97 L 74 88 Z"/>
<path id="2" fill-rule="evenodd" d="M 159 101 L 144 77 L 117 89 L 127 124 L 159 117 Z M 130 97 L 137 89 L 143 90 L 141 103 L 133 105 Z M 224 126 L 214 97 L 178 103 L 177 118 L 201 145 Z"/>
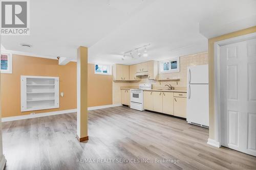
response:
<path id="1" fill-rule="evenodd" d="M 143 90 L 150 90 L 152 89 L 151 84 L 139 84 L 138 89 L 131 89 L 131 109 L 135 110 L 144 110 L 143 106 Z"/>

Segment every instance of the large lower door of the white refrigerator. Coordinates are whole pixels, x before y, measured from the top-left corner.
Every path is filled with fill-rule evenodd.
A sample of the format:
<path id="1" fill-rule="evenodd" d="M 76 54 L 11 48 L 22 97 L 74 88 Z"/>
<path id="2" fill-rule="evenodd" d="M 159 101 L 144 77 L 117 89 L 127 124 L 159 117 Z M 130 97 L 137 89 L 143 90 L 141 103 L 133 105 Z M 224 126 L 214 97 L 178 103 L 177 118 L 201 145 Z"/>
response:
<path id="1" fill-rule="evenodd" d="M 209 85 L 189 84 L 187 93 L 187 122 L 209 126 Z"/>

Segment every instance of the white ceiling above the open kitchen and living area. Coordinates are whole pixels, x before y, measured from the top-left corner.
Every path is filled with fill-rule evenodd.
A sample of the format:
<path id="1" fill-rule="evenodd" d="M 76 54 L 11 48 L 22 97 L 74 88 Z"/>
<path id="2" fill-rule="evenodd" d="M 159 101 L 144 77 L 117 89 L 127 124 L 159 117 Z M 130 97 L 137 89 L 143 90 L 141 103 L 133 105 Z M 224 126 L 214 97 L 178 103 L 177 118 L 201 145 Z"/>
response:
<path id="1" fill-rule="evenodd" d="M 76 58 L 78 46 L 88 46 L 91 63 L 163 60 L 207 51 L 207 38 L 199 31 L 201 25 L 206 32 L 210 30 L 205 27 L 205 20 L 218 20 L 220 14 L 238 11 L 240 6 L 246 10 L 253 3 L 254 0 L 33 0 L 30 35 L 2 36 L 2 44 L 7 50 L 70 59 Z M 253 11 L 247 11 L 244 17 L 253 15 Z M 33 47 L 24 48 L 19 43 Z M 148 43 L 151 45 L 147 58 L 121 60 L 123 52 Z"/>

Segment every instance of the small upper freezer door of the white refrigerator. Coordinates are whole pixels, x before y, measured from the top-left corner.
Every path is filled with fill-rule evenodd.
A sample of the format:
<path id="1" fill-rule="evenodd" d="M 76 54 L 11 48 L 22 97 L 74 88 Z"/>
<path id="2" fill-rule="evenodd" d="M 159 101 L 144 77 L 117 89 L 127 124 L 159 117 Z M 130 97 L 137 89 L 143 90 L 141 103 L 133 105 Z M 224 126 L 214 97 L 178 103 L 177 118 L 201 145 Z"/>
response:
<path id="1" fill-rule="evenodd" d="M 208 84 L 208 65 L 187 67 L 188 84 Z"/>

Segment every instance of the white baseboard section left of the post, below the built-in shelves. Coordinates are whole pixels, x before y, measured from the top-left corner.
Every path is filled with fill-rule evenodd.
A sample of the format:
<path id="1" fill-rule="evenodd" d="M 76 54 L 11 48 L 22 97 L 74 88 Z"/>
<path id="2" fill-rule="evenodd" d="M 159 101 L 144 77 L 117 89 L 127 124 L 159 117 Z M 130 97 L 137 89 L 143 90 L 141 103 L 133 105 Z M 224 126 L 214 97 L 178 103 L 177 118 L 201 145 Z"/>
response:
<path id="1" fill-rule="evenodd" d="M 3 117 L 2 122 L 9 122 L 9 121 L 13 121 L 13 120 L 22 120 L 22 119 L 35 118 L 35 117 L 51 116 L 51 115 L 56 115 L 56 114 L 74 113 L 74 112 L 76 112 L 76 109 L 60 110 L 60 111 L 36 113 L 36 114 L 26 114 L 26 115 L 21 115 L 21 116 L 12 116 L 12 117 Z"/>

